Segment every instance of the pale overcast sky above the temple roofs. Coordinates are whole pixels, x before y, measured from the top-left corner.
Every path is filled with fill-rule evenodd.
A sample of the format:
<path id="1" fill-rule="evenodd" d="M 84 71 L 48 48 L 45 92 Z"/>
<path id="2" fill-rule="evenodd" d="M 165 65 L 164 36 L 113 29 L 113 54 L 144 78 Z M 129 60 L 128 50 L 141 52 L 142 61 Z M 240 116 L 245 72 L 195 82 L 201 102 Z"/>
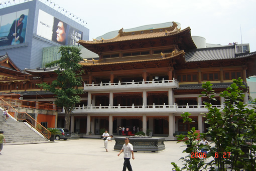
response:
<path id="1" fill-rule="evenodd" d="M 181 24 L 181 29 L 190 27 L 191 35 L 204 37 L 206 43 L 249 43 L 250 52 L 256 51 L 255 0 L 49 1 L 86 21 L 90 40 L 121 28 L 174 21 Z"/>

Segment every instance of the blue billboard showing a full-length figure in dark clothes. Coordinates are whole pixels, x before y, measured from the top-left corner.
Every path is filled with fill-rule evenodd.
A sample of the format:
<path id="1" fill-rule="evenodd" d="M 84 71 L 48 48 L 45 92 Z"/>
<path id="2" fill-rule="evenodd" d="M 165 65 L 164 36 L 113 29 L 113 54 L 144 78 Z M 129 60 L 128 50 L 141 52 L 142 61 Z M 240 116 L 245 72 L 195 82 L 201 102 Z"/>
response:
<path id="1" fill-rule="evenodd" d="M 25 42 L 29 9 L 0 16 L 0 46 Z"/>

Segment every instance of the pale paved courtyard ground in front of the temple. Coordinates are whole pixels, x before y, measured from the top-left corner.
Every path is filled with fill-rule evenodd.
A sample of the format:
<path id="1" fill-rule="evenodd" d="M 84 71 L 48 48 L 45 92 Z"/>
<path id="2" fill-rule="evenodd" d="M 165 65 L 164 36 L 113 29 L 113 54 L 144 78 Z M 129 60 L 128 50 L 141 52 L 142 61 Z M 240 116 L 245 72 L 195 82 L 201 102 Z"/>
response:
<path id="1" fill-rule="evenodd" d="M 159 153 L 135 152 L 131 159 L 133 170 L 172 170 L 171 162 L 179 163 L 185 147 L 177 141 L 165 141 L 165 151 Z M 101 139 L 81 138 L 54 143 L 4 145 L 0 155 L 0 170 L 122 170 L 123 153 L 113 150 L 114 140 L 108 142 L 105 152 Z"/>

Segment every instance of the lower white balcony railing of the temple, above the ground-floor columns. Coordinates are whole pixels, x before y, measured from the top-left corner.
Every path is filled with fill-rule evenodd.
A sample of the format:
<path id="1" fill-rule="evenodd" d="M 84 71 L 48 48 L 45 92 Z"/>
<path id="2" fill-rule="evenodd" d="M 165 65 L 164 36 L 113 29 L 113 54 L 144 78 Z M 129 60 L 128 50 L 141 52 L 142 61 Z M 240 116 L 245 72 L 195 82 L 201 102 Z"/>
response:
<path id="1" fill-rule="evenodd" d="M 255 104 L 248 104 L 246 107 L 248 109 L 253 109 L 253 106 L 256 107 Z M 224 105 L 213 105 L 213 107 L 217 107 L 220 109 L 220 112 L 224 108 Z M 108 114 L 108 113 L 118 113 L 118 114 L 142 114 L 142 113 L 183 113 L 189 112 L 191 114 L 198 114 L 198 113 L 207 113 L 207 108 L 205 105 L 185 105 L 185 106 L 178 106 L 177 104 L 174 105 L 142 105 L 142 106 L 79 106 L 75 107 L 72 111 L 74 114 Z M 61 113 L 64 113 L 64 109 Z"/>

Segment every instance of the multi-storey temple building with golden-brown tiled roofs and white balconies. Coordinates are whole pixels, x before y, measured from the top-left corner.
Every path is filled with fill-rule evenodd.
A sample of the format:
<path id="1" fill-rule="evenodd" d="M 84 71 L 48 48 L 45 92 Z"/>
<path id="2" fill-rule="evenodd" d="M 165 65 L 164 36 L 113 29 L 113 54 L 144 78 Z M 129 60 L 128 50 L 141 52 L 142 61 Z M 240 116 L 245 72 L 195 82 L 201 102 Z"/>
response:
<path id="1" fill-rule="evenodd" d="M 71 114 L 72 132 L 99 134 L 108 129 L 115 134 L 118 125 L 139 127 L 153 132 L 153 136 L 166 136 L 174 140 L 175 134 L 188 131 L 180 114 L 191 113 L 195 127 L 206 132 L 201 113 L 207 112 L 203 97 L 199 97 L 201 84 L 210 81 L 218 108 L 224 99 L 219 96 L 232 79 L 256 75 L 256 52 L 239 51 L 240 45 L 198 49 L 191 37 L 191 29 L 181 30 L 175 22 L 166 28 L 123 32 L 112 39 L 79 40 L 80 45 L 98 54 L 99 60 L 84 60 L 84 94 L 81 103 Z M 51 83 L 56 68 L 25 69 L 34 79 L 23 86 L 23 97 L 37 101 L 53 101 L 53 94 L 45 93 L 36 83 Z M 13 84 L 13 83 L 12 83 Z M 16 83 L 14 83 L 16 85 Z M 5 89 L 2 83 L 0 90 Z M 16 87 L 16 86 L 13 86 Z M 3 89 L 4 88 L 4 89 Z M 78 87 L 79 88 L 79 87 Z M 13 89 L 11 89 L 13 91 Z M 40 94 L 40 96 L 38 95 Z M 244 103 L 249 90 L 245 90 Z M 64 111 L 58 110 L 56 127 L 64 126 Z"/>

